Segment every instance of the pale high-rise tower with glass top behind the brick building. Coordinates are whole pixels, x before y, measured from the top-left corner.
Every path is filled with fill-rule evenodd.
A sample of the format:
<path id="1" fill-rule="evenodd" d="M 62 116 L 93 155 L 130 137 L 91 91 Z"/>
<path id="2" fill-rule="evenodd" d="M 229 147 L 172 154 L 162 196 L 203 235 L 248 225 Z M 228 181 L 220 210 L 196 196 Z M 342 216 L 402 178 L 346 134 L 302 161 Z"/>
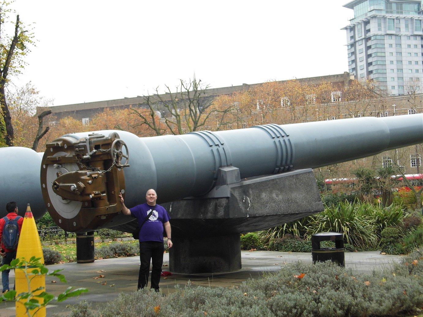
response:
<path id="1" fill-rule="evenodd" d="M 422 93 L 420 0 L 353 0 L 346 30 L 350 76 L 371 79 L 391 95 Z"/>

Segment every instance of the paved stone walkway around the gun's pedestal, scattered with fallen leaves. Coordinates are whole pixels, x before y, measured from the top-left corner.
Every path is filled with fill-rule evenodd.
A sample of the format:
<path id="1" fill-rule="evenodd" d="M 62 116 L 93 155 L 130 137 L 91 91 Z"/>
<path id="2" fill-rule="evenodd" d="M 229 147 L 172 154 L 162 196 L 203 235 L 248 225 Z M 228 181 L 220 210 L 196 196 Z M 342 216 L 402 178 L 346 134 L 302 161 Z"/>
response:
<path id="1" fill-rule="evenodd" d="M 162 292 L 174 291 L 176 284 L 184 287 L 190 280 L 194 285 L 204 287 L 231 287 L 241 284 L 247 279 L 261 278 L 263 273 L 275 272 L 289 263 L 302 261 L 311 263 L 311 253 L 288 253 L 276 251 L 241 251 L 242 269 L 231 273 L 208 273 L 208 274 L 172 274 L 162 277 L 160 287 Z M 382 255 L 379 251 L 371 252 L 346 252 L 345 266 L 354 271 L 380 270 L 401 256 Z M 165 254 L 163 271 L 168 271 L 169 254 Z M 86 300 L 95 305 L 112 301 L 120 293 L 134 292 L 137 288 L 139 257 L 125 257 L 116 259 L 96 260 L 92 263 L 63 263 L 48 265 L 50 271 L 63 269 L 68 281 L 61 283 L 58 279 L 55 283 L 51 277 L 46 278 L 46 289 L 54 295 L 58 295 L 67 287 L 85 287 L 88 293 L 79 298 L 70 298 L 62 303 L 54 303 L 47 307 L 47 316 L 52 314 L 69 314 L 67 305 Z M 99 277 L 104 276 L 104 277 Z M 14 273 L 10 272 L 10 283 L 14 283 Z M 0 302 L 0 317 L 15 317 L 15 303 Z"/>

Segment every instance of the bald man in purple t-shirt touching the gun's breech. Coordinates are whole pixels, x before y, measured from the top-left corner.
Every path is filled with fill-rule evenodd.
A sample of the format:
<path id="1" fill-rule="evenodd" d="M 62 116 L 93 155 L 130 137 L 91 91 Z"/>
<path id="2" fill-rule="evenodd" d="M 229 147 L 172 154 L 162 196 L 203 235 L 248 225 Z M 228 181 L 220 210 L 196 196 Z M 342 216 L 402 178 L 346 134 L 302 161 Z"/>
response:
<path id="1" fill-rule="evenodd" d="M 148 273 L 150 271 L 150 260 L 153 268 L 151 269 L 150 288 L 156 292 L 159 291 L 160 275 L 162 273 L 163 253 L 165 246 L 163 245 L 163 230 L 166 231 L 168 237 L 168 247 L 171 248 L 173 243 L 170 238 L 169 215 L 165 208 L 156 204 L 157 194 L 154 189 L 148 189 L 146 194 L 147 202 L 141 205 L 127 208 L 124 204 L 122 195 L 122 213 L 138 219 L 140 226 L 148 215 L 148 219 L 140 230 L 140 273 L 138 276 L 138 290 L 146 287 L 148 284 Z"/>

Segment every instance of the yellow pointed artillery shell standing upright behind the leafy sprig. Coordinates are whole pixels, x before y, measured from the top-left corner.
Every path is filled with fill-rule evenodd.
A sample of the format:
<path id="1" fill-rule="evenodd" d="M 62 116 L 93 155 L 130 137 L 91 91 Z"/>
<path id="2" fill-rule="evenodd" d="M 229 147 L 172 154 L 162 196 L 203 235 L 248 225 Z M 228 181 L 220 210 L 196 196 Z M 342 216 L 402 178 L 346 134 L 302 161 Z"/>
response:
<path id="1" fill-rule="evenodd" d="M 25 258 L 26 261 L 29 261 L 31 257 L 40 257 L 41 263 L 44 264 L 43 249 L 41 247 L 40 236 L 38 235 L 37 226 L 35 224 L 35 219 L 31 212 L 30 205 L 28 204 L 27 210 L 25 213 L 25 218 L 22 223 L 22 230 L 19 236 L 18 249 L 16 251 L 16 259 L 21 257 Z M 42 288 L 36 292 L 39 294 L 45 291 L 46 288 L 46 277 L 45 275 L 33 275 L 30 273 L 32 268 L 28 268 L 25 272 L 25 269 L 16 269 L 15 270 L 15 287 L 16 294 L 22 292 L 32 292 L 38 288 Z M 27 277 L 30 279 L 28 283 Z M 16 317 L 28 316 L 26 314 L 26 308 L 23 304 L 23 301 L 16 301 Z M 35 313 L 35 314 L 34 314 Z M 46 308 L 42 307 L 38 311 L 31 310 L 30 316 L 36 317 L 46 317 Z"/>

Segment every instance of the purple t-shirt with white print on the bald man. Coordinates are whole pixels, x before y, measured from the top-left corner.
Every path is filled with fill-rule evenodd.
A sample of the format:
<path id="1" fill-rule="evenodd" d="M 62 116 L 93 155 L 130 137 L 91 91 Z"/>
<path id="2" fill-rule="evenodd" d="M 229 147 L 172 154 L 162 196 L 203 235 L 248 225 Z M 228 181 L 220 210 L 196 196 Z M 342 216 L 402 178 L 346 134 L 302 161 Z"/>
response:
<path id="1" fill-rule="evenodd" d="M 168 222 L 170 217 L 165 208 L 160 205 L 150 206 L 147 203 L 130 208 L 131 216 L 138 219 L 138 226 L 143 223 L 150 211 L 154 209 L 150 218 L 146 220 L 140 230 L 141 241 L 163 242 L 163 224 Z"/>

